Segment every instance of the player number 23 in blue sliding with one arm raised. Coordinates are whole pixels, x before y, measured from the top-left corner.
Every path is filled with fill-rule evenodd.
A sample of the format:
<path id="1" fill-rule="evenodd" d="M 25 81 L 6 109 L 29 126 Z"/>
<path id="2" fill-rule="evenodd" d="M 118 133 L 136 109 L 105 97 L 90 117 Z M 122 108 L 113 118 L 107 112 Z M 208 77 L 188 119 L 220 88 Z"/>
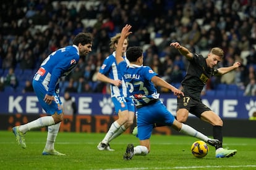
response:
<path id="1" fill-rule="evenodd" d="M 210 139 L 201 132 L 196 131 L 187 124 L 178 122 L 174 116 L 167 110 L 159 99 L 159 93 L 155 86 L 170 89 L 178 98 L 184 96 L 183 92 L 163 79 L 148 66 L 143 66 L 143 54 L 140 47 L 129 47 L 126 52 L 130 65 L 122 58 L 122 44 L 124 39 L 132 32 L 132 26 L 126 25 L 122 28 L 121 38 L 118 41 L 116 49 L 117 69 L 126 82 L 130 97 L 134 100 L 137 107 L 137 126 L 140 145 L 134 147 L 128 144 L 124 160 L 130 160 L 134 155 L 148 155 L 150 152 L 150 136 L 153 129 L 153 123 L 162 123 L 171 126 L 179 132 L 207 142 L 212 146 L 220 144 L 217 139 Z"/>

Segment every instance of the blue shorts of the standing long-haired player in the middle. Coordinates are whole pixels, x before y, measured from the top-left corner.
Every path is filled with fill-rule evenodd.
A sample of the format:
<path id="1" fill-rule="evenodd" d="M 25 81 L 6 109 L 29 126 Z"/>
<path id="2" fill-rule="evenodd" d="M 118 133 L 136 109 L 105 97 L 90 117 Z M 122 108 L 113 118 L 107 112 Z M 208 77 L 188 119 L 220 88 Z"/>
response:
<path id="1" fill-rule="evenodd" d="M 128 110 L 132 112 L 135 111 L 134 101 L 130 97 L 112 97 L 112 101 L 114 103 L 114 110 L 116 111 L 116 113 L 118 113 L 119 110 Z"/>

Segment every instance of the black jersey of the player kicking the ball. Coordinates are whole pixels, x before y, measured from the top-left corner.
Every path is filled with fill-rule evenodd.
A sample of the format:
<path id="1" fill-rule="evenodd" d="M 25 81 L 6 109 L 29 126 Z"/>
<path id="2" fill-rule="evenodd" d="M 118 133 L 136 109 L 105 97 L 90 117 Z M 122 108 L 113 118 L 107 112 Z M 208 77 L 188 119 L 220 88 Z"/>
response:
<path id="1" fill-rule="evenodd" d="M 195 100 L 200 100 L 203 86 L 213 76 L 214 69 L 207 66 L 206 58 L 203 55 L 193 54 L 189 60 L 187 73 L 182 81 L 183 92 Z"/>

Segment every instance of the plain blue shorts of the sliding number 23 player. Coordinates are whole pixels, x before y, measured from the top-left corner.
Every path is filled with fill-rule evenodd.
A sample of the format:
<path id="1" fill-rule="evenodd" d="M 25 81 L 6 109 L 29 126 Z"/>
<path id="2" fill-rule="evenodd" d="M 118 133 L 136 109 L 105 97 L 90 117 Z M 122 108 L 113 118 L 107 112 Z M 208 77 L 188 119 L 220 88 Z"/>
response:
<path id="1" fill-rule="evenodd" d="M 172 126 L 174 121 L 174 116 L 160 100 L 153 104 L 137 108 L 136 115 L 138 126 L 137 137 L 140 140 L 150 139 L 154 123 Z"/>

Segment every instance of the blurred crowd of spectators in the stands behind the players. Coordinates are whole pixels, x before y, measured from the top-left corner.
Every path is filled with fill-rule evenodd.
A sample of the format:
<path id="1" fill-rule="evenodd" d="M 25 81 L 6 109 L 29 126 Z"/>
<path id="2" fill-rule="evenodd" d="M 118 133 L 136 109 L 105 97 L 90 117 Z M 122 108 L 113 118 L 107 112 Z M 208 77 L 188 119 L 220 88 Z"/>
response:
<path id="1" fill-rule="evenodd" d="M 2 0 L 0 13 L 0 91 L 33 92 L 40 63 L 83 31 L 93 34 L 93 51 L 61 80 L 61 94 L 108 93 L 108 84 L 97 81 L 96 74 L 113 52 L 110 38 L 129 23 L 129 46 L 143 47 L 144 65 L 174 86 L 180 86 L 187 67 L 184 57 L 169 47 L 179 41 L 204 57 L 212 47 L 221 47 L 220 67 L 242 63 L 211 78 L 202 95 L 256 95 L 255 0 Z"/>

